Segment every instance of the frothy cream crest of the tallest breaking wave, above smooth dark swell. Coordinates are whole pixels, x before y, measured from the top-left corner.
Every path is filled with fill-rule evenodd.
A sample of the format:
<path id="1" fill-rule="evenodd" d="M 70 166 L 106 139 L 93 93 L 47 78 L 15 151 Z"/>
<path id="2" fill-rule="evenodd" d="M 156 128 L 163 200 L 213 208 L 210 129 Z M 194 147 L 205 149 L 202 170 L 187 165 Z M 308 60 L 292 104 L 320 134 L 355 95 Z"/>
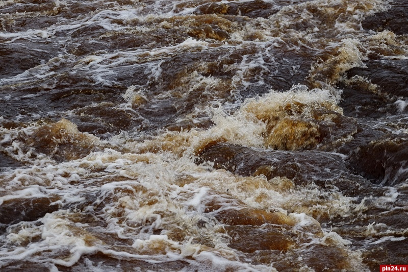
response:
<path id="1" fill-rule="evenodd" d="M 263 147 L 264 133 L 267 122 L 262 116 L 272 118 L 282 107 L 287 104 L 301 103 L 306 105 L 330 104 L 331 109 L 342 114 L 340 107 L 336 106 L 336 96 L 329 90 L 309 90 L 305 86 L 294 86 L 287 92 L 271 90 L 268 94 L 257 98 L 248 98 L 240 109 L 233 114 L 227 113 L 221 106 L 211 108 L 214 126 L 206 131 L 192 129 L 184 134 L 190 138 L 187 145 L 189 154 L 200 150 L 211 142 L 228 142 L 242 146 Z M 261 115 L 261 116 L 258 116 Z M 159 139 L 158 139 L 159 140 Z M 191 150 L 192 149 L 192 150 Z"/>

